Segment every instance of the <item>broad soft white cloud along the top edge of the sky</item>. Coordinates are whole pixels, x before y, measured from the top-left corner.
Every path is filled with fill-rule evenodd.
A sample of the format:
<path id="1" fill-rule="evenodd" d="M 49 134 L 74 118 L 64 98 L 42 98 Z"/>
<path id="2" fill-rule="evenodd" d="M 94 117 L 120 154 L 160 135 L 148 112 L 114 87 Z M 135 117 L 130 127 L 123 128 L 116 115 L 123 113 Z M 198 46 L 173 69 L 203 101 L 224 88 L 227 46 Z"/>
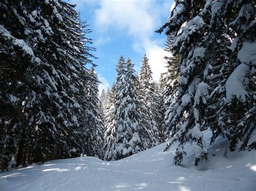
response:
<path id="1" fill-rule="evenodd" d="M 141 38 L 153 31 L 154 17 L 150 14 L 152 1 L 107 1 L 102 0 L 96 12 L 96 24 L 101 28 L 111 25 L 128 30 L 129 34 Z"/>

